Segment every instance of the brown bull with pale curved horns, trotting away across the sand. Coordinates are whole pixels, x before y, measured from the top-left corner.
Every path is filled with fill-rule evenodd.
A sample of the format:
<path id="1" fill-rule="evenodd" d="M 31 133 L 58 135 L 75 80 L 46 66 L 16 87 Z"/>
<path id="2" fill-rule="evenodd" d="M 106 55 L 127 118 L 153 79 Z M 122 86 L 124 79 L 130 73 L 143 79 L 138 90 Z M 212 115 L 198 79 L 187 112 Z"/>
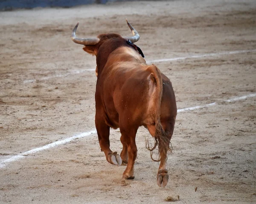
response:
<path id="1" fill-rule="evenodd" d="M 128 21 L 127 21 L 128 23 Z M 133 37 L 119 34 L 100 34 L 96 38 L 77 38 L 73 29 L 72 40 L 85 45 L 84 51 L 96 55 L 96 115 L 95 125 L 101 150 L 109 163 L 127 164 L 123 178 L 134 178 L 134 162 L 137 157 L 135 137 L 140 126 L 148 128 L 158 147 L 160 167 L 157 184 L 166 186 L 168 170 L 167 153 L 170 149 L 177 107 L 170 80 L 155 65 L 147 65 L 136 45 L 128 43 L 140 39 L 137 31 L 128 23 Z M 110 127 L 120 128 L 123 145 L 120 156 L 110 149 Z"/>

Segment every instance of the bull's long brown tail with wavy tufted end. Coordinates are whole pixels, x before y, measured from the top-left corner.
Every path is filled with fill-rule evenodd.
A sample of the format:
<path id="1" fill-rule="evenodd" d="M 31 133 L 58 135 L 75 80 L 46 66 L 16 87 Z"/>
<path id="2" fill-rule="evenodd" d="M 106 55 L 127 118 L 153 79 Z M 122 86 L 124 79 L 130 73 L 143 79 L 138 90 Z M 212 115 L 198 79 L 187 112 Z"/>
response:
<path id="1" fill-rule="evenodd" d="M 155 133 L 152 135 L 154 137 L 154 146 L 149 147 L 148 140 L 146 141 L 146 148 L 150 150 L 150 156 L 153 161 L 160 161 L 162 157 L 166 157 L 166 154 L 169 152 L 172 153 L 172 144 L 170 139 L 168 139 L 165 130 L 160 121 L 160 108 L 161 100 L 163 96 L 163 80 L 160 70 L 155 66 L 151 65 L 149 67 L 151 71 L 150 79 L 154 85 L 154 91 L 152 93 L 152 102 L 150 103 L 149 115 L 151 119 L 154 120 Z M 171 145 L 171 147 L 170 147 Z M 153 159 L 153 150 L 158 146 L 158 159 Z"/>

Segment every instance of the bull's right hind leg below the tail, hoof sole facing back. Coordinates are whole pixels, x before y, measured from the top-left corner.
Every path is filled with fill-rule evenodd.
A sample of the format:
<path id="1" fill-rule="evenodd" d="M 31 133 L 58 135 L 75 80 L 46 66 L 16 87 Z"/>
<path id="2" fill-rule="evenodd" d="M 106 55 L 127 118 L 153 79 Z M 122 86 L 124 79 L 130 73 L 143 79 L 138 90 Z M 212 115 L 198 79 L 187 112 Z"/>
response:
<path id="1" fill-rule="evenodd" d="M 171 119 L 168 122 L 161 122 L 163 129 L 165 130 L 166 136 L 170 141 L 172 138 L 175 119 Z M 167 150 L 166 148 L 162 148 L 160 152 L 160 166 L 157 173 L 157 185 L 160 187 L 165 187 L 169 180 L 168 170 L 167 170 Z"/>

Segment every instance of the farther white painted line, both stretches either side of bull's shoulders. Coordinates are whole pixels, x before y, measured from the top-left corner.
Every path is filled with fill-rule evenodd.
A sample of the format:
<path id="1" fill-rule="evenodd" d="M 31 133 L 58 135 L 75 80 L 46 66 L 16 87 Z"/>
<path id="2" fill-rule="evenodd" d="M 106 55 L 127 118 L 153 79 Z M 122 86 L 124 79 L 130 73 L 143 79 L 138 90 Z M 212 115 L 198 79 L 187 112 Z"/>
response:
<path id="1" fill-rule="evenodd" d="M 226 54 L 239 54 L 239 53 L 247 53 L 247 52 L 255 52 L 255 50 L 237 50 L 237 51 L 229 51 L 229 52 L 221 52 L 221 53 L 208 53 L 208 54 L 201 54 L 201 55 L 191 55 L 191 56 L 186 56 L 186 57 L 175 57 L 175 58 L 169 58 L 169 59 L 153 59 L 153 60 L 149 60 L 147 61 L 147 63 L 152 63 L 152 62 L 169 62 L 169 61 L 176 61 L 179 59 L 191 59 L 191 58 L 202 58 L 202 57 L 213 57 L 213 56 L 221 56 L 221 55 L 226 55 Z M 49 77 L 43 77 L 41 79 L 38 79 L 39 81 L 42 80 L 48 80 L 48 79 L 52 79 L 55 77 L 67 77 L 68 75 L 71 74 L 80 74 L 83 73 L 85 71 L 95 71 L 95 69 L 82 69 L 82 70 L 75 70 L 75 71 L 71 71 L 68 74 L 58 74 L 58 75 L 52 75 Z M 31 82 L 35 82 L 36 79 L 27 79 L 24 80 L 23 83 L 31 83 Z"/>

